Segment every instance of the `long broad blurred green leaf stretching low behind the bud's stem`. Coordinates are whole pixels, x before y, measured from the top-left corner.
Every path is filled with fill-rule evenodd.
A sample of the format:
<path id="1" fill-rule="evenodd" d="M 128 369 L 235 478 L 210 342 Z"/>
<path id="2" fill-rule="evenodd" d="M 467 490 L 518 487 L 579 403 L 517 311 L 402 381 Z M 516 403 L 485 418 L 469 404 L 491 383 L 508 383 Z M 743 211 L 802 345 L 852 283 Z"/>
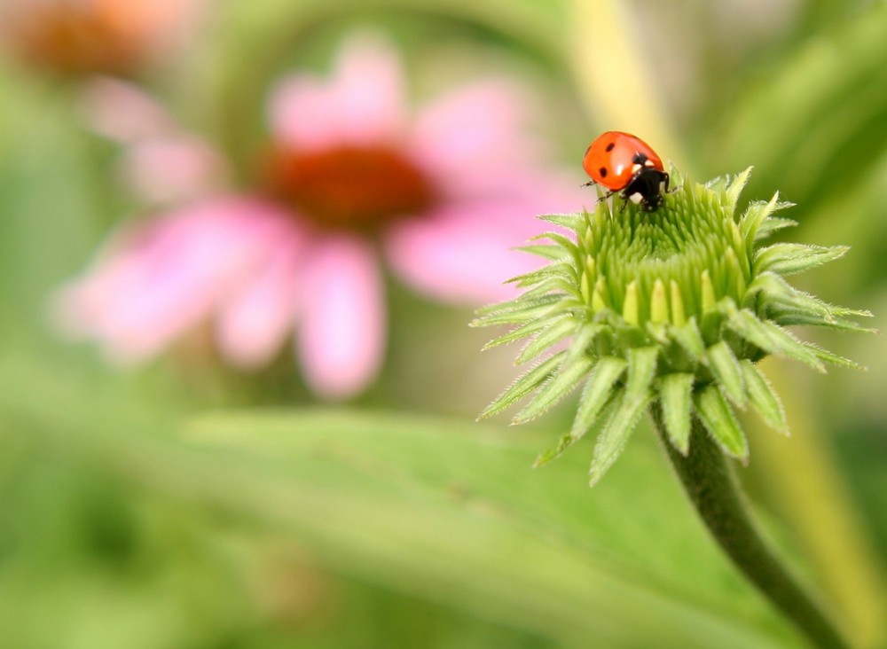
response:
<path id="1" fill-rule="evenodd" d="M 177 439 L 169 412 L 98 387 L 5 362 L 4 439 L 24 435 L 197 511 L 292 534 L 341 574 L 563 645 L 799 646 L 711 546 L 653 446 L 634 445 L 589 491 L 581 454 L 530 470 L 531 431 L 240 411 L 194 418 Z"/>

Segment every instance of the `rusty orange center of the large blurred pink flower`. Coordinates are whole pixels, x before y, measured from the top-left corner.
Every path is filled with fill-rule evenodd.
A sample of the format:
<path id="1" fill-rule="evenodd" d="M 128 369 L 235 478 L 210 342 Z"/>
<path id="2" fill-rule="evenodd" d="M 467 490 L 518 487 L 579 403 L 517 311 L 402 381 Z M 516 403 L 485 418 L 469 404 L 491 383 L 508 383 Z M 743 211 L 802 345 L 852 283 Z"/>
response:
<path id="1" fill-rule="evenodd" d="M 279 149 L 271 154 L 268 172 L 274 198 L 326 228 L 373 229 L 417 215 L 436 200 L 428 176 L 385 146 Z"/>

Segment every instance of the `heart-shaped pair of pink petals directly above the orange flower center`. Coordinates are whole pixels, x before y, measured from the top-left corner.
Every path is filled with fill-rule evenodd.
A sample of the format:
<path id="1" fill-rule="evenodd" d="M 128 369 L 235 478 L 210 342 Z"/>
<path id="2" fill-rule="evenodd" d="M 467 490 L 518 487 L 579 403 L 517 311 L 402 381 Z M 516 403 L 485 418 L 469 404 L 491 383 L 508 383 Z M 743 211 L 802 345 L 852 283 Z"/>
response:
<path id="1" fill-rule="evenodd" d="M 397 137 L 404 124 L 403 73 L 396 51 L 363 37 L 341 51 L 334 76 L 296 76 L 271 98 L 271 129 L 300 149 L 372 145 Z"/>

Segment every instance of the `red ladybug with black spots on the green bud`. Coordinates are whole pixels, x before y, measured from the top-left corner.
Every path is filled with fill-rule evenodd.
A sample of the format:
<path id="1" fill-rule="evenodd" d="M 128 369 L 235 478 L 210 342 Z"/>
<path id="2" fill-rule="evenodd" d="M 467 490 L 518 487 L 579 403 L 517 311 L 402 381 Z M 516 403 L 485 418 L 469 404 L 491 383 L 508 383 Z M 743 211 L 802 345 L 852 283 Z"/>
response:
<path id="1" fill-rule="evenodd" d="M 582 168 L 592 177 L 585 186 L 600 184 L 609 198 L 621 192 L 641 209 L 653 212 L 663 203 L 668 192 L 669 177 L 663 160 L 640 137 L 620 130 L 602 133 L 585 150 Z M 625 207 L 623 203 L 623 208 Z"/>

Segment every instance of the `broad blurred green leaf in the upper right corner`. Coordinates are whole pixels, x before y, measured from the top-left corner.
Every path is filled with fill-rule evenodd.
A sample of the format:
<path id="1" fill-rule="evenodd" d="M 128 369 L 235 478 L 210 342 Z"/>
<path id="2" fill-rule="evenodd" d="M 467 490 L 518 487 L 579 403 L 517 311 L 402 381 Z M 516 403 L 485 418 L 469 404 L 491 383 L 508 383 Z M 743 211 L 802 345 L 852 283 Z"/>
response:
<path id="1" fill-rule="evenodd" d="M 714 168 L 755 165 L 749 195 L 778 188 L 806 208 L 852 192 L 887 149 L 887 4 L 869 3 L 808 35 L 771 72 L 750 79 L 710 138 Z"/>

